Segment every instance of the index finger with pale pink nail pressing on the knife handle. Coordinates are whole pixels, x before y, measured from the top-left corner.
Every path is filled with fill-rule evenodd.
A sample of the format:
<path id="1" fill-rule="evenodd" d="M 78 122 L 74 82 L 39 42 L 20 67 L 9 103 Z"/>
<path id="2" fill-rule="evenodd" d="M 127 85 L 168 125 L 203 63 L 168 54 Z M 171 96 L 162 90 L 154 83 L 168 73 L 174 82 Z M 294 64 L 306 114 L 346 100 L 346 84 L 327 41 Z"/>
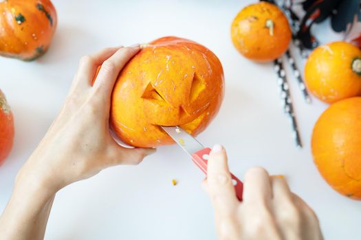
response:
<path id="1" fill-rule="evenodd" d="M 215 211 L 233 214 L 238 200 L 228 169 L 226 150 L 221 145 L 215 145 L 210 152 L 207 171 L 208 193 Z"/>

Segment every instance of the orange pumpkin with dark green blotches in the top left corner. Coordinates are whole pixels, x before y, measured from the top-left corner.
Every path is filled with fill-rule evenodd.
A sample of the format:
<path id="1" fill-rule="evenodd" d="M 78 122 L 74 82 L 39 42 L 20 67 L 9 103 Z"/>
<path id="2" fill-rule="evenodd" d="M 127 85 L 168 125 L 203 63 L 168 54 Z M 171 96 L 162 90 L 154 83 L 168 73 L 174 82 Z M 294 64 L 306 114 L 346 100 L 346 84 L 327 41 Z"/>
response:
<path id="1" fill-rule="evenodd" d="M 49 0 L 0 1 L 0 55 L 30 61 L 43 55 L 56 29 Z"/>

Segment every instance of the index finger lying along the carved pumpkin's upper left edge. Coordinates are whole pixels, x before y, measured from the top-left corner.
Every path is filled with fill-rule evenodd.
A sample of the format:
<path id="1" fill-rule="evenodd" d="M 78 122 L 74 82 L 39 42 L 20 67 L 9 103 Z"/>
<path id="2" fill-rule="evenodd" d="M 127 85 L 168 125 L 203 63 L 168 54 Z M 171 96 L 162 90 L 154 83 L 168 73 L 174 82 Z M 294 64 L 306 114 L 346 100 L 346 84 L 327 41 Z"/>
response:
<path id="1" fill-rule="evenodd" d="M 113 56 L 105 60 L 94 82 L 94 91 L 99 92 L 103 96 L 109 96 L 110 99 L 111 91 L 113 90 L 120 71 L 138 51 L 140 51 L 139 45 L 135 47 L 123 47 L 116 51 Z"/>

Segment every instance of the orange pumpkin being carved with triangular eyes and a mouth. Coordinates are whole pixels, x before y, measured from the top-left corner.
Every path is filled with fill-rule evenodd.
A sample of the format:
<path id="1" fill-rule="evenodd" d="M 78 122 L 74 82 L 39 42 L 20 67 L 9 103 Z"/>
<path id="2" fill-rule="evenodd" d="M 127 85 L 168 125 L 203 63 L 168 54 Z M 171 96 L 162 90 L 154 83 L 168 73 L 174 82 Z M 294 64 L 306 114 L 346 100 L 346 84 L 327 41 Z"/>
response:
<path id="1" fill-rule="evenodd" d="M 217 56 L 191 40 L 157 39 L 120 73 L 111 99 L 111 125 L 129 145 L 174 143 L 160 125 L 180 125 L 194 136 L 217 114 L 223 99 Z"/>

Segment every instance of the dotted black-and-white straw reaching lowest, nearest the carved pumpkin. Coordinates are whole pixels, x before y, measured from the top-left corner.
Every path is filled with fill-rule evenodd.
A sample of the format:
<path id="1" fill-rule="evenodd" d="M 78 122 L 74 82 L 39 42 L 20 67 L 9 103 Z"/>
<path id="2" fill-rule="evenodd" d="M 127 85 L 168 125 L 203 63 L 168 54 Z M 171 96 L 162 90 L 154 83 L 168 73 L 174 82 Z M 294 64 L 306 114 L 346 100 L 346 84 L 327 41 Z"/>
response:
<path id="1" fill-rule="evenodd" d="M 283 69 L 282 58 L 278 58 L 274 60 L 274 71 L 277 74 L 277 83 L 280 90 L 280 95 L 282 99 L 283 110 L 285 115 L 289 117 L 289 121 L 291 121 L 293 137 L 296 142 L 297 147 L 302 147 L 302 143 L 300 141 L 300 134 L 298 132 L 296 116 L 294 115 L 294 107 L 292 104 L 291 95 L 289 93 L 289 85 L 286 79 L 285 69 Z"/>

